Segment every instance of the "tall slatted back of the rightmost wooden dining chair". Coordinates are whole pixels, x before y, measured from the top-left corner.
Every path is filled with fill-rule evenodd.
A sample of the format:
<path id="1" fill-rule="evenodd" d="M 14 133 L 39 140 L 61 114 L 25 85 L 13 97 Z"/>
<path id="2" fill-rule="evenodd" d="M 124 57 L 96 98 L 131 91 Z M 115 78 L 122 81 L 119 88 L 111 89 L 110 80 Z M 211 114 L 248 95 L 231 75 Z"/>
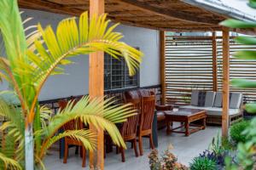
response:
<path id="1" fill-rule="evenodd" d="M 154 118 L 155 96 L 150 95 L 142 99 L 142 114 L 140 119 L 140 131 L 152 129 Z"/>

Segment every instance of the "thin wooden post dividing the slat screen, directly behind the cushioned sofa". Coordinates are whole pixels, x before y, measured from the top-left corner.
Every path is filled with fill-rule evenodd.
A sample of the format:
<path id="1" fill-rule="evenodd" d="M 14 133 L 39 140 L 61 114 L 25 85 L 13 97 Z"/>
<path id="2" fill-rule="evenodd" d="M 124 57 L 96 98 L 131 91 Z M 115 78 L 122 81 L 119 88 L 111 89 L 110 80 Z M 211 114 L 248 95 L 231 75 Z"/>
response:
<path id="1" fill-rule="evenodd" d="M 217 42 L 216 42 L 216 32 L 212 32 L 212 90 L 214 92 L 218 91 L 218 63 L 217 63 Z"/>

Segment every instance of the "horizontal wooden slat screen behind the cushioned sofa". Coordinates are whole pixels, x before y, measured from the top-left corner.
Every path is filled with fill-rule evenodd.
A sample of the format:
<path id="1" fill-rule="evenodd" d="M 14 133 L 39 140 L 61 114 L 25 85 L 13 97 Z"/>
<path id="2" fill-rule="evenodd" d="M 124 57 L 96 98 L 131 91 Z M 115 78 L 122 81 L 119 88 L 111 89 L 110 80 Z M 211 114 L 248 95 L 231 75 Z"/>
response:
<path id="1" fill-rule="evenodd" d="M 235 59 L 231 55 L 241 49 L 252 50 L 256 46 L 237 44 L 230 37 L 230 79 L 256 80 L 256 61 Z M 218 91 L 222 90 L 222 37 L 217 37 Z M 186 105 L 192 89 L 211 90 L 212 37 L 166 36 L 166 100 L 168 103 Z M 244 101 L 256 100 L 255 89 L 230 87 L 230 92 L 242 92 Z"/>

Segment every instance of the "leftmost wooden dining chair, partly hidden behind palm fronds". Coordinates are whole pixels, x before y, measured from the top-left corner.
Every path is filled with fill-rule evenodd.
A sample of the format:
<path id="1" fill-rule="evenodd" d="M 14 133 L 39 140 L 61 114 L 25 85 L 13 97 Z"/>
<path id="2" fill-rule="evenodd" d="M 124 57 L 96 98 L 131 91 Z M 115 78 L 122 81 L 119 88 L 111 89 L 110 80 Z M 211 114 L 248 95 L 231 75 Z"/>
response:
<path id="1" fill-rule="evenodd" d="M 76 101 L 74 101 L 75 105 Z M 58 102 L 60 109 L 64 109 L 67 106 L 67 100 L 60 100 Z M 70 122 L 67 122 L 65 125 L 63 125 L 63 130 L 68 131 L 68 130 L 78 130 L 78 129 L 83 129 L 84 125 L 83 122 L 81 122 L 79 119 L 78 120 L 73 120 Z M 64 150 L 64 159 L 63 163 L 67 163 L 67 156 L 68 156 L 68 146 L 69 145 L 74 145 L 74 146 L 79 146 L 80 148 L 80 156 L 82 157 L 82 167 L 85 167 L 85 159 L 86 159 L 86 150 L 84 148 L 84 145 L 76 139 L 71 139 L 69 137 L 65 137 L 65 150 Z"/>

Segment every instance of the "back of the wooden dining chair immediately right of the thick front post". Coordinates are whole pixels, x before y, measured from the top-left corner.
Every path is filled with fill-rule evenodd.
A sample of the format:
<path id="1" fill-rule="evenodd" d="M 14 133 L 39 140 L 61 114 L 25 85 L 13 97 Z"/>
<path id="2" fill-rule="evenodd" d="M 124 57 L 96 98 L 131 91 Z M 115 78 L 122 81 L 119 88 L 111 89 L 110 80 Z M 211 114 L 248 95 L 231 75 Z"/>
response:
<path id="1" fill-rule="evenodd" d="M 131 103 L 131 110 L 136 111 L 137 115 L 128 117 L 121 128 L 121 134 L 125 140 L 136 138 L 140 116 L 140 99 L 128 99 L 127 102 Z"/>

